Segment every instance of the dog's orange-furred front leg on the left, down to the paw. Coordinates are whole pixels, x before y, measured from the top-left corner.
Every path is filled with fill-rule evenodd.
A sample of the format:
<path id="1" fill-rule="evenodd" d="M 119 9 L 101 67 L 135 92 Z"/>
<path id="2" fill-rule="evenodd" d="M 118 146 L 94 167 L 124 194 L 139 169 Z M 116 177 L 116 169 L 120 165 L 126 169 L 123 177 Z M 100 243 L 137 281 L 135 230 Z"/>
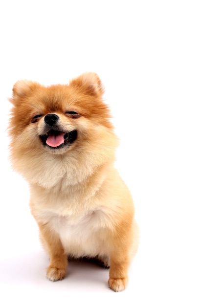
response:
<path id="1" fill-rule="evenodd" d="M 68 259 L 57 233 L 50 230 L 48 224 L 39 224 L 40 234 L 45 241 L 50 263 L 47 267 L 48 280 L 61 281 L 67 273 Z"/>

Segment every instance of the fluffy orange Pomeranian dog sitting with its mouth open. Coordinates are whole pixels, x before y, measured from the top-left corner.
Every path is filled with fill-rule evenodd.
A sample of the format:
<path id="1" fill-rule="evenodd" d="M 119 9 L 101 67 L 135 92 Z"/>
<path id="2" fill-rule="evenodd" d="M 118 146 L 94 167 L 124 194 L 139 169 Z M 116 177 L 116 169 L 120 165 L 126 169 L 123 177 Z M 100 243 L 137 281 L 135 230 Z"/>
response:
<path id="1" fill-rule="evenodd" d="M 13 87 L 9 135 L 13 168 L 29 183 L 30 209 L 49 254 L 46 276 L 62 280 L 68 258 L 110 267 L 124 290 L 138 228 L 130 192 L 114 168 L 117 137 L 98 75 L 69 85 L 22 80 Z"/>

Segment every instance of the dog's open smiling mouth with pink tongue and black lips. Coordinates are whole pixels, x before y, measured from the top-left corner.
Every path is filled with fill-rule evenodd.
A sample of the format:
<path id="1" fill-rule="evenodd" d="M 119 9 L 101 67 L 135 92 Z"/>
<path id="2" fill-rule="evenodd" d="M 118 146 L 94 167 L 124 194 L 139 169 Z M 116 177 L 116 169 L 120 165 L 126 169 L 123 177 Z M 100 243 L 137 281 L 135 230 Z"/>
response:
<path id="1" fill-rule="evenodd" d="M 63 147 L 68 147 L 77 138 L 77 131 L 55 131 L 51 130 L 45 135 L 40 135 L 41 140 L 45 146 L 52 149 L 59 149 Z"/>

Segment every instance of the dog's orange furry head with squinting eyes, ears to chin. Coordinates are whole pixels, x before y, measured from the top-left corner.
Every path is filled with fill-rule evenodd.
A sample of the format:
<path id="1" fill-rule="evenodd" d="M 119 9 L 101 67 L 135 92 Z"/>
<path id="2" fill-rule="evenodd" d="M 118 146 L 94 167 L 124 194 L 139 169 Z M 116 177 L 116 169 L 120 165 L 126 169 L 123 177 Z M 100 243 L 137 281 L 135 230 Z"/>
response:
<path id="1" fill-rule="evenodd" d="M 18 81 L 10 99 L 14 105 L 10 135 L 13 140 L 20 136 L 23 141 L 25 137 L 30 148 L 43 145 L 45 150 L 57 154 L 70 150 L 78 138 L 87 139 L 94 126 L 112 129 L 102 95 L 101 81 L 91 72 L 69 85 L 44 87 L 27 80 Z"/>

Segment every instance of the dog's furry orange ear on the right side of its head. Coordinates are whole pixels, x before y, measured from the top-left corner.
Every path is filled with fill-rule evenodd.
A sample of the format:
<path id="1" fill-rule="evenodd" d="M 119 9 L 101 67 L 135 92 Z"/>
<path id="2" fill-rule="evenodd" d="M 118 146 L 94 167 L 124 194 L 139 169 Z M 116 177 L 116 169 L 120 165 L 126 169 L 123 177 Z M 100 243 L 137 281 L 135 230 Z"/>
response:
<path id="1" fill-rule="evenodd" d="M 101 80 L 95 72 L 85 72 L 76 79 L 71 80 L 69 85 L 81 88 L 90 95 L 101 96 L 104 93 Z"/>

